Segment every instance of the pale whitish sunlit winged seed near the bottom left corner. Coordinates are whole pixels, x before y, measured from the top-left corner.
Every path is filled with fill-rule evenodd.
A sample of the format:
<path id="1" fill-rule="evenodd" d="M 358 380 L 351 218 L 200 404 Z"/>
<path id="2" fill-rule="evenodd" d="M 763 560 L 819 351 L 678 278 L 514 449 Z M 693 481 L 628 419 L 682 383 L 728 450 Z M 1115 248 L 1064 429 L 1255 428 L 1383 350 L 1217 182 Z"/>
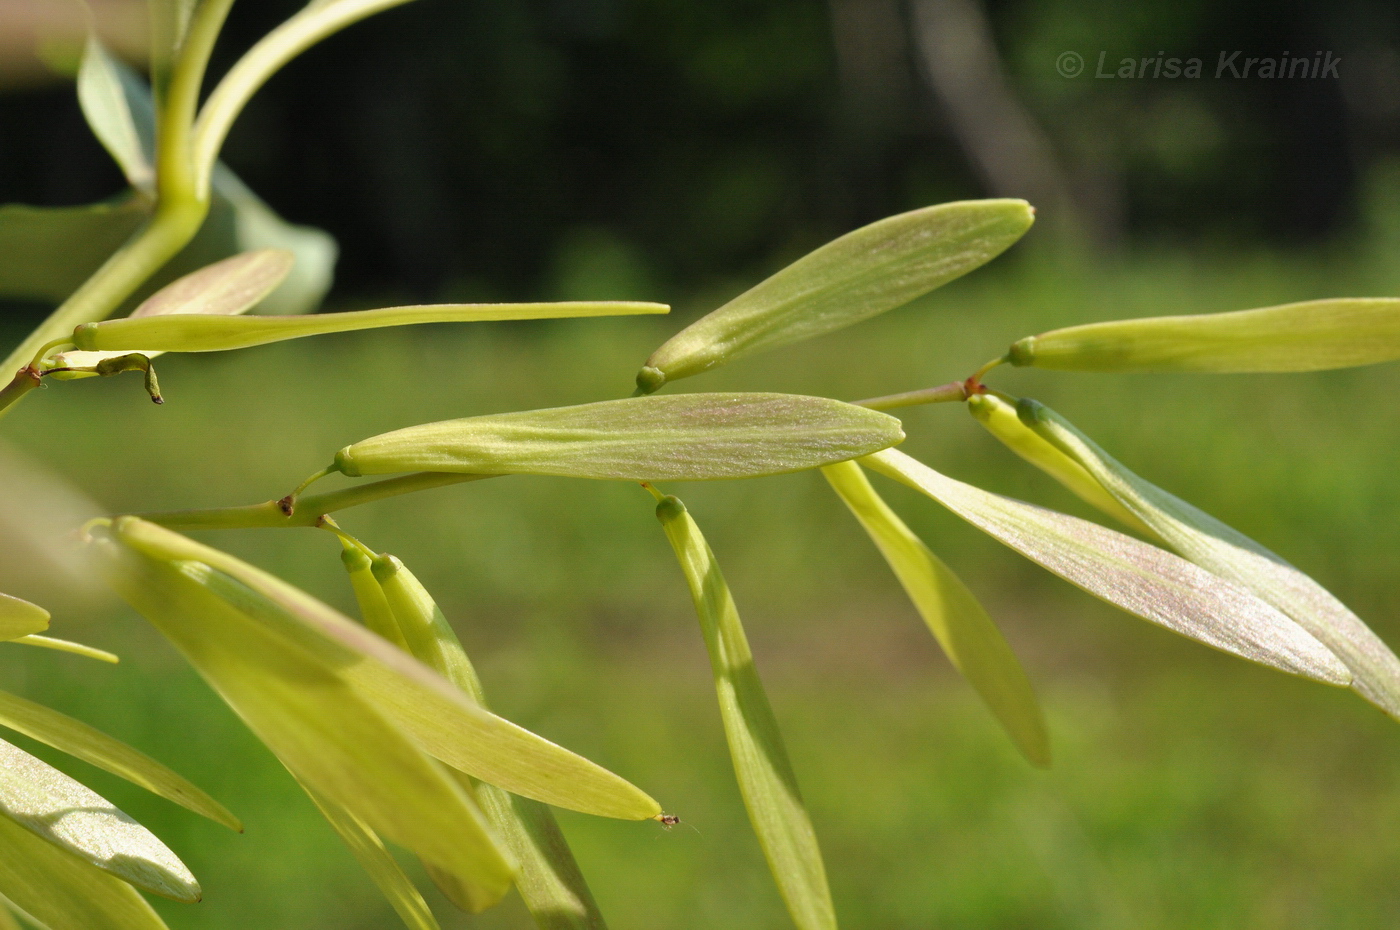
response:
<path id="1" fill-rule="evenodd" d="M 199 882 L 155 836 L 111 801 L 0 740 L 0 814 L 137 888 L 199 901 Z"/>

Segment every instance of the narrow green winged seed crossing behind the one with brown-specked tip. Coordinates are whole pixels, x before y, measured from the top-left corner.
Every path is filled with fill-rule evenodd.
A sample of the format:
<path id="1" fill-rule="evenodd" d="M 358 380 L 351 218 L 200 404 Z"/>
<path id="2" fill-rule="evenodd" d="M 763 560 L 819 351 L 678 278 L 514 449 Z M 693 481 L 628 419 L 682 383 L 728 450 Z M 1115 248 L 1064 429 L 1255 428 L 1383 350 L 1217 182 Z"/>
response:
<path id="1" fill-rule="evenodd" d="M 381 585 L 381 597 L 393 612 L 395 626 L 402 630 L 409 651 L 484 707 L 486 695 L 472 660 L 427 588 L 402 562 L 388 555 L 374 560 L 372 577 Z M 361 601 L 364 608 L 377 609 L 372 599 Z M 515 887 L 539 926 L 603 930 L 603 917 L 553 812 L 493 784 L 476 786 L 476 794 L 505 847 L 519 861 Z M 431 867 L 428 874 L 458 906 L 472 910 L 470 898 L 451 877 Z"/>

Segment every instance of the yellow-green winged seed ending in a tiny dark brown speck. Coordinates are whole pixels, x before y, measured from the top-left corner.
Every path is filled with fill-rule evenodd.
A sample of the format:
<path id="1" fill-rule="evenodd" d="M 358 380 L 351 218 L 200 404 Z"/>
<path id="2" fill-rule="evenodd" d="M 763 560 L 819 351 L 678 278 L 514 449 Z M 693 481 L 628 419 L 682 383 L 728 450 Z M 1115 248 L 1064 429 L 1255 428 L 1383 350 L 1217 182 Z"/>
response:
<path id="1" fill-rule="evenodd" d="M 517 794 L 584 814 L 640 821 L 661 812 L 659 805 L 633 784 L 483 710 L 441 675 L 305 591 L 134 517 L 115 520 L 112 531 L 123 543 L 154 559 L 203 563 L 246 585 L 259 598 L 246 602 L 258 608 L 256 616 L 249 619 L 265 636 L 294 646 L 307 661 L 335 668 L 358 698 L 449 766 Z"/>

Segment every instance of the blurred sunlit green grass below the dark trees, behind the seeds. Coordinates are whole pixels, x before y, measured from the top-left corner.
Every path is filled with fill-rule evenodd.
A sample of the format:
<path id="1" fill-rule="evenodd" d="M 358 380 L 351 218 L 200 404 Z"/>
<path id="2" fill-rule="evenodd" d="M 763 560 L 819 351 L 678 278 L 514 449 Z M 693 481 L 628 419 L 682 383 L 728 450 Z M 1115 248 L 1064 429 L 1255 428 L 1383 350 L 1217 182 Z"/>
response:
<path id="1" fill-rule="evenodd" d="M 844 333 L 678 389 L 858 398 L 965 377 L 1056 325 L 1400 293 L 1347 252 L 1140 255 L 1089 269 L 1029 252 Z M 560 294 L 568 297 L 570 294 Z M 633 294 L 627 294 L 633 297 Z M 661 297 L 643 294 L 643 297 Z M 130 378 L 53 385 L 6 422 L 113 510 L 277 497 L 339 447 L 410 423 L 624 396 L 672 319 L 434 328 L 167 356 L 168 402 Z M 1394 366 L 1294 377 L 1050 375 L 990 382 L 1050 403 L 1130 466 L 1313 573 L 1400 643 Z M 906 412 L 906 450 L 993 490 L 1084 513 L 959 408 Z M 734 585 L 847 927 L 1400 924 L 1400 733 L 1345 692 L 1228 660 L 1092 601 L 911 493 L 909 522 L 981 595 L 1049 710 L 1022 763 L 815 475 L 669 487 Z M 329 489 L 329 482 L 328 482 Z M 504 478 L 346 511 L 454 618 L 493 703 L 617 770 L 683 825 L 563 815 L 615 929 L 784 927 L 734 787 L 704 650 L 651 499 Z M 350 609 L 315 531 L 207 539 Z M 120 667 L 8 647 L 0 686 L 120 735 L 248 825 L 234 836 L 39 751 L 148 824 L 200 875 L 175 929 L 392 927 L 290 779 L 141 620 L 64 592 L 53 632 Z M 692 825 L 694 829 L 690 829 Z M 451 927 L 528 927 L 518 902 Z"/>

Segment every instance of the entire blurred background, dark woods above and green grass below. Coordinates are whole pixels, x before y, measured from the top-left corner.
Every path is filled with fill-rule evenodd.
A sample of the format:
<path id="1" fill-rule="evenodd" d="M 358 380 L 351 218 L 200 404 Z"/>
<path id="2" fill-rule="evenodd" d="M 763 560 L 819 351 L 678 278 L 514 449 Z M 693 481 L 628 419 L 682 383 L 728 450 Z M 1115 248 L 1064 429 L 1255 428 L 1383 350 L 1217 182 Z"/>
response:
<path id="1" fill-rule="evenodd" d="M 220 67 L 294 6 L 235 8 Z M 125 4 L 102 8 L 125 22 Z M 112 510 L 266 500 L 386 429 L 622 396 L 671 332 L 808 248 L 888 213 L 988 193 L 1042 206 L 1037 228 L 993 266 L 685 389 L 860 398 L 965 377 L 1056 325 L 1396 294 L 1397 28 L 1380 3 L 419 0 L 290 67 L 230 140 L 228 162 L 255 189 L 340 241 L 329 308 L 619 297 L 666 300 L 673 315 L 167 357 L 164 408 L 134 375 L 63 382 L 7 417 L 4 437 Z M 60 32 L 45 39 L 48 60 L 62 57 Z M 0 52 L 11 46 L 32 52 L 20 39 Z M 1218 52 L 1233 49 L 1344 60 L 1327 83 L 1211 78 Z M 1091 71 L 1099 50 L 1110 64 L 1201 56 L 1207 77 L 1064 78 L 1064 50 Z M 21 52 L 0 71 L 0 195 L 59 204 L 113 193 L 119 179 L 85 139 L 71 85 Z M 41 310 L 8 305 L 8 335 Z M 1057 408 L 1400 644 L 1397 377 L 1386 366 L 1197 378 L 998 370 L 991 382 Z M 904 423 L 904 448 L 934 466 L 1088 515 L 956 406 L 911 409 Z M 1392 721 L 1345 692 L 1109 609 L 931 501 L 878 487 L 1023 657 L 1050 716 L 1050 772 L 1015 755 L 819 476 L 668 489 L 729 576 L 844 926 L 1400 924 Z M 664 832 L 561 817 L 613 927 L 784 927 L 651 508 L 631 486 L 511 478 L 342 522 L 434 591 L 500 712 L 683 818 Z M 329 535 L 206 538 L 351 609 Z M 274 759 L 139 618 L 62 591 L 15 594 L 55 608 L 55 634 L 113 648 L 123 664 L 10 647 L 0 686 L 129 740 L 248 825 L 225 833 L 35 749 L 196 871 L 203 903 L 158 902 L 174 929 L 395 926 Z M 468 919 L 430 894 L 444 926 L 529 926 L 518 901 Z"/>

